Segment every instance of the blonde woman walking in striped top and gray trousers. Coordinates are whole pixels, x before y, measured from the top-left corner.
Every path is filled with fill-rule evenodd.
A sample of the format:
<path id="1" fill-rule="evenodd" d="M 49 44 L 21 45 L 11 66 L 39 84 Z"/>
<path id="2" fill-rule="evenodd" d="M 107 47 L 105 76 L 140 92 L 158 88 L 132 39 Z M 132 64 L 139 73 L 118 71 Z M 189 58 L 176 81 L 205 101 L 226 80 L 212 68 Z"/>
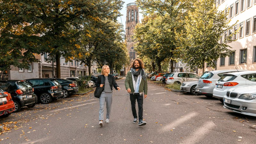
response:
<path id="1" fill-rule="evenodd" d="M 101 75 L 98 76 L 98 82 L 96 83 L 96 87 L 102 87 L 103 92 L 100 95 L 100 110 L 99 110 L 99 124 L 103 125 L 103 114 L 104 114 L 104 106 L 106 103 L 107 107 L 107 115 L 106 115 L 106 123 L 109 123 L 110 112 L 111 112 L 111 104 L 112 104 L 112 96 L 113 89 L 120 90 L 120 87 L 116 84 L 115 77 L 109 74 L 110 69 L 107 65 L 104 65 L 101 69 Z"/>

